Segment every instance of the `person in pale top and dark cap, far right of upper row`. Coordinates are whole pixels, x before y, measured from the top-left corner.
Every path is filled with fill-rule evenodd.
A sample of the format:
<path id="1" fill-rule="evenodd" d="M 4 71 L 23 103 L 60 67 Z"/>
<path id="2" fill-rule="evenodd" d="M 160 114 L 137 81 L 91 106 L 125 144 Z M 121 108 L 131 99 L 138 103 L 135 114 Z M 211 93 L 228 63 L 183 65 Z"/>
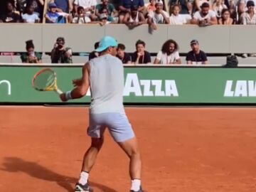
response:
<path id="1" fill-rule="evenodd" d="M 254 1 L 247 1 L 247 11 L 241 15 L 242 25 L 255 25 L 256 13 Z"/>

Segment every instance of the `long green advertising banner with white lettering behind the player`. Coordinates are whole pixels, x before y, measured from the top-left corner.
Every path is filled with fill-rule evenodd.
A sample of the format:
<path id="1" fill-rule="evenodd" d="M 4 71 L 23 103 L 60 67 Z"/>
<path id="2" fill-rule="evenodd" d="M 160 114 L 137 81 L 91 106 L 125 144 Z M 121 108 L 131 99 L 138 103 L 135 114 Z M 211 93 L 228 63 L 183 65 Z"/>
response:
<path id="1" fill-rule="evenodd" d="M 31 86 L 35 66 L 0 67 L 0 102 L 60 102 Z M 58 87 L 73 88 L 82 67 L 53 67 Z M 256 68 L 124 68 L 124 103 L 256 103 Z M 89 92 L 88 92 L 89 94 Z M 90 95 L 70 102 L 90 102 Z"/>

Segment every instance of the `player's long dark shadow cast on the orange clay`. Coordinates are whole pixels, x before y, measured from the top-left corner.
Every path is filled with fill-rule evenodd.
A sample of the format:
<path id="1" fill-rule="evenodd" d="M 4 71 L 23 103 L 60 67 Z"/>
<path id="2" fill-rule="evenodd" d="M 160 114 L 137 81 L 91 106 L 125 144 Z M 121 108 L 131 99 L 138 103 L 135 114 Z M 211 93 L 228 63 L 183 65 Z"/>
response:
<path id="1" fill-rule="evenodd" d="M 35 162 L 25 161 L 17 157 L 6 157 L 2 166 L 3 167 L 0 168 L 2 171 L 23 172 L 34 178 L 56 182 L 59 186 L 62 186 L 68 192 L 74 191 L 75 183 L 78 181 L 78 178 L 57 174 L 50 169 L 47 169 L 46 167 L 36 164 Z M 117 192 L 114 189 L 104 186 L 100 183 L 90 181 L 90 185 L 92 188 L 97 187 L 105 192 Z"/>

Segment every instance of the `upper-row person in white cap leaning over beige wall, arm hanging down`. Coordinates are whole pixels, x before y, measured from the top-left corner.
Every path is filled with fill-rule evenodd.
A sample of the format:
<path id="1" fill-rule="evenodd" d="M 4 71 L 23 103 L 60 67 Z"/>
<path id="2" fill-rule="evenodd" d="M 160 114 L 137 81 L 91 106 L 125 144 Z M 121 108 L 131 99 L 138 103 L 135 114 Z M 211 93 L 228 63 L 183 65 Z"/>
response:
<path id="1" fill-rule="evenodd" d="M 170 23 L 169 14 L 163 10 L 163 1 L 156 1 L 156 11 L 149 12 L 148 23 L 151 29 L 156 30 L 156 24 Z"/>

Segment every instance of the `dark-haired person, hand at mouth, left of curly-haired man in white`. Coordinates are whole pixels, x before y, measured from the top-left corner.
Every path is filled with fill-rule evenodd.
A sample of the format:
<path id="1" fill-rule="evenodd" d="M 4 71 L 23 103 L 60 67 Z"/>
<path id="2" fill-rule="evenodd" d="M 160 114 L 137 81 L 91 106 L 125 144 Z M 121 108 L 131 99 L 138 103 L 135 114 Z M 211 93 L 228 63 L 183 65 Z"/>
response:
<path id="1" fill-rule="evenodd" d="M 144 41 L 138 40 L 136 42 L 136 51 L 132 53 L 132 63 L 151 63 L 150 53 L 145 50 L 145 46 L 146 43 Z"/>

